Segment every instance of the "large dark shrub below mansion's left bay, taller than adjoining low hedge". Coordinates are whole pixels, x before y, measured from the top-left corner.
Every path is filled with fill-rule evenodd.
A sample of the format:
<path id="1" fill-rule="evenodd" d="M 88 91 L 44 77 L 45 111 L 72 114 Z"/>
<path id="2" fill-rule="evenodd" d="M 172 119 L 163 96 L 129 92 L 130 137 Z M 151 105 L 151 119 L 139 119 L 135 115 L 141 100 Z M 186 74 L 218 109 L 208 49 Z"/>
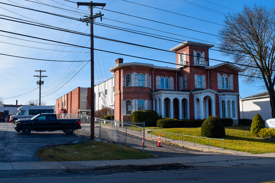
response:
<path id="1" fill-rule="evenodd" d="M 131 118 L 133 123 L 145 122 L 145 126 L 156 126 L 160 116 L 154 110 L 138 110 L 132 112 Z"/>

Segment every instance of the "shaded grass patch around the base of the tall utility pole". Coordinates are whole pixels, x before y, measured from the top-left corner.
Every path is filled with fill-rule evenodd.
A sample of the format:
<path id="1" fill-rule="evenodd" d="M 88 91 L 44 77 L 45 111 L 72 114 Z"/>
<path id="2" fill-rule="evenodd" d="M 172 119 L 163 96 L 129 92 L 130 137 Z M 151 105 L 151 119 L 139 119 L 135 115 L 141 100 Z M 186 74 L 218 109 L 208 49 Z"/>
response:
<path id="1" fill-rule="evenodd" d="M 120 151 L 119 145 L 104 142 L 88 142 L 42 148 L 37 151 L 36 156 L 43 161 L 120 160 L 157 157 L 125 146 L 122 146 L 122 151 Z"/>

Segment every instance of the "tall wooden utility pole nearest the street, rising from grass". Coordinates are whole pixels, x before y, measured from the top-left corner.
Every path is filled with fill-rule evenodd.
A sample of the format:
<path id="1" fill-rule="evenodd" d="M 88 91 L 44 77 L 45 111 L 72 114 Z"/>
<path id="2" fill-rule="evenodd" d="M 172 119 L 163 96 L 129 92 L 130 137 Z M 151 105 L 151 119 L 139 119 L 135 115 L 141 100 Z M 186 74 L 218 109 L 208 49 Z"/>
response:
<path id="1" fill-rule="evenodd" d="M 94 139 L 94 19 L 104 14 L 100 12 L 93 15 L 93 8 L 96 6 L 105 7 L 106 3 L 77 2 L 77 6 L 88 6 L 90 8 L 90 16 L 81 21 L 89 20 L 91 31 L 91 139 Z"/>

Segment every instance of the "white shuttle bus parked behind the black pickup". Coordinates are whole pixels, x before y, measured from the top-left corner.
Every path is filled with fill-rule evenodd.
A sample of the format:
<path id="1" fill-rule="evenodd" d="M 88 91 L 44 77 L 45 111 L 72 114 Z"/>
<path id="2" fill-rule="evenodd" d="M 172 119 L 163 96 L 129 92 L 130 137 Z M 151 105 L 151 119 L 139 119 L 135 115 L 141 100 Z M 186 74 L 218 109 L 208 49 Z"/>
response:
<path id="1" fill-rule="evenodd" d="M 22 106 L 18 108 L 19 112 L 10 117 L 10 121 L 32 118 L 40 113 L 54 113 L 55 106 Z"/>

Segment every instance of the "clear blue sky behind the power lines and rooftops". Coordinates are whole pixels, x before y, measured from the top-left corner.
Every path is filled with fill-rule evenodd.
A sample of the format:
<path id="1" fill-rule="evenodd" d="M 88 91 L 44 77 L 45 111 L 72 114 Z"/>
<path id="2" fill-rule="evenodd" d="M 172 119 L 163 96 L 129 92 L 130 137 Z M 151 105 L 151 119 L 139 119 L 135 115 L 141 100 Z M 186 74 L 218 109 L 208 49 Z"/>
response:
<path id="1" fill-rule="evenodd" d="M 33 1 L 33 2 L 31 2 Z M 88 7 L 80 6 L 77 8 L 76 3 L 68 2 L 65 0 L 43 0 L 43 3 L 55 7 L 39 4 L 42 1 L 37 0 L 2 0 L 4 3 L 17 5 L 20 7 L 28 7 L 35 10 L 51 12 L 63 16 L 69 16 L 73 18 L 81 18 L 85 13 L 89 13 Z M 74 1 L 74 0 L 72 0 Z M 79 0 L 80 1 L 80 0 Z M 122 0 L 98 0 L 94 2 L 106 3 L 104 10 L 94 8 L 94 13 L 101 11 L 104 13 L 105 19 L 100 21 L 96 19 L 96 23 L 103 23 L 111 26 L 118 26 L 136 31 L 143 31 L 151 34 L 167 36 L 177 41 L 183 42 L 184 40 L 205 42 L 217 45 L 218 30 L 222 27 L 224 13 L 234 13 L 241 11 L 244 4 L 253 6 L 254 3 L 265 5 L 267 7 L 273 6 L 273 1 L 264 0 L 233 0 L 233 1 L 218 1 L 218 0 L 171 0 L 171 1 L 145 1 L 145 0 L 129 0 L 131 2 L 140 3 L 146 6 L 151 6 L 166 11 L 186 15 L 177 15 L 170 12 L 164 12 L 149 7 L 133 4 Z M 77 1 L 74 1 L 77 2 Z M 86 2 L 86 1 L 83 1 Z M 88 1 L 87 1 L 88 2 Z M 193 4 L 195 3 L 195 4 Z M 214 4 L 215 3 L 215 4 Z M 217 5 L 218 4 L 218 5 Z M 58 7 L 58 8 L 57 8 Z M 68 10 L 64 10 L 64 9 Z M 207 9 L 210 8 L 210 9 Z M 53 16 L 41 12 L 35 12 L 27 9 L 13 7 L 10 5 L 0 4 L 0 18 L 7 18 L 4 16 L 11 16 L 31 22 L 39 22 L 50 26 L 56 26 L 63 29 L 72 31 L 78 31 L 82 33 L 90 32 L 89 26 L 86 23 L 70 20 L 64 17 Z M 69 11 L 70 10 L 70 11 Z M 110 12 L 107 10 L 115 11 Z M 153 21 L 163 22 L 175 26 L 184 27 L 179 28 L 175 26 L 168 26 L 157 22 L 152 22 L 133 16 L 127 16 L 116 12 L 138 16 Z M 3 16 L 4 15 L 4 16 Z M 190 16 L 190 17 L 187 17 Z M 197 19 L 194 19 L 194 18 Z M 8 18 L 12 19 L 12 18 Z M 202 20 L 198 20 L 202 19 Z M 120 22 L 125 23 L 120 23 Z M 214 23 L 210 23 L 210 22 Z M 133 26 L 143 26 L 151 29 L 169 32 L 163 33 L 160 31 L 153 31 L 150 29 Z M 0 54 L 8 54 L 20 57 L 34 58 L 24 59 L 11 57 L 7 55 L 0 55 L 0 96 L 4 98 L 4 104 L 15 104 L 18 100 L 18 104 L 25 104 L 30 99 L 39 98 L 39 89 L 36 85 L 38 72 L 35 70 L 46 70 L 43 74 L 48 76 L 42 80 L 45 81 L 41 88 L 41 100 L 46 101 L 47 105 L 54 105 L 55 100 L 60 96 L 68 93 L 76 87 L 90 87 L 90 64 L 87 62 L 53 62 L 53 61 L 41 61 L 36 59 L 56 60 L 56 61 L 83 61 L 89 60 L 89 49 L 75 48 L 72 46 L 64 46 L 63 44 L 54 43 L 45 40 L 39 40 L 35 38 L 25 37 L 21 35 L 14 35 L 11 33 L 3 32 L 9 31 L 22 35 L 29 35 L 39 37 L 48 40 L 55 40 L 73 45 L 90 46 L 89 36 L 76 35 L 72 33 L 64 33 L 62 31 L 51 30 L 43 27 L 37 27 L 18 22 L 12 22 L 9 20 L 0 19 Z M 195 31 L 187 30 L 192 29 Z M 209 34 L 204 34 L 200 32 Z M 169 50 L 170 48 L 178 45 L 178 42 L 161 40 L 144 35 L 138 35 L 130 32 L 111 29 L 104 26 L 95 25 L 94 35 L 105 38 L 111 38 L 114 40 L 121 40 L 125 42 L 135 43 L 139 45 L 146 45 L 158 49 Z M 179 36 L 181 35 L 181 36 Z M 9 37 L 7 37 L 9 36 Z M 17 39 L 15 39 L 17 38 Z M 22 40 L 24 39 L 24 40 Z M 198 39 L 198 40 L 196 40 Z M 182 40 L 182 41 L 181 41 Z M 35 41 L 35 42 L 34 42 Z M 43 42 L 43 43 L 39 43 Z M 45 44 L 47 43 L 47 44 Z M 128 54 L 139 56 L 143 58 L 156 59 L 175 63 L 175 54 L 157 51 L 153 49 L 144 49 L 137 46 L 131 46 L 116 42 L 110 42 L 102 39 L 94 39 L 94 47 L 96 49 L 107 50 L 111 52 L 117 52 L 121 54 Z M 213 48 L 216 49 L 216 48 Z M 219 59 L 223 61 L 231 61 L 229 58 L 221 55 L 220 52 L 215 50 L 209 51 L 209 57 L 213 59 Z M 155 61 L 148 61 L 144 59 L 138 59 L 119 54 L 111 54 L 106 52 L 95 51 L 95 70 L 94 70 L 94 83 L 98 84 L 110 77 L 111 72 L 109 68 L 115 65 L 115 59 L 123 58 L 124 63 L 127 62 L 142 62 L 152 63 L 158 66 L 175 67 L 174 64 L 166 64 Z M 210 61 L 210 65 L 215 65 L 219 62 Z M 82 69 L 81 69 L 82 68 Z M 81 70 L 80 70 L 81 69 Z M 77 73 L 77 74 L 76 74 Z M 74 76 L 75 75 L 75 76 Z M 74 76 L 74 77 L 73 77 Z M 69 81 L 70 80 L 70 81 Z M 65 84 L 66 83 L 66 84 Z M 64 86 L 63 86 L 64 85 Z M 253 85 L 244 85 L 242 79 L 239 79 L 239 92 L 242 98 L 263 92 L 264 89 L 258 87 L 260 84 L 255 83 Z M 34 91 L 31 91 L 34 90 Z M 31 92 L 30 92 L 31 91 Z M 27 93 L 28 92 L 28 93 Z M 24 94 L 27 93 L 27 94 Z M 24 95 L 22 95 L 24 94 Z M 21 95 L 21 96 L 19 96 Z M 17 97 L 15 97 L 17 96 Z"/>

